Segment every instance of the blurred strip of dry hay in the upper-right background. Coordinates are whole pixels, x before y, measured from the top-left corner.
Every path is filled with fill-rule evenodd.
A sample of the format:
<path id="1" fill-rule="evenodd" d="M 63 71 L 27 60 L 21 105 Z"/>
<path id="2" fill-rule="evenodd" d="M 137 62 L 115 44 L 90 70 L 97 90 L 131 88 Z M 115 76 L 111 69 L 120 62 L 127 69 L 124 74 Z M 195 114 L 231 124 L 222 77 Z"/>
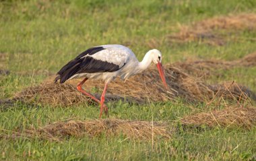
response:
<path id="1" fill-rule="evenodd" d="M 177 34 L 168 36 L 170 41 L 190 42 L 201 41 L 207 44 L 223 45 L 226 38 L 235 30 L 255 30 L 256 15 L 254 13 L 241 13 L 227 15 L 195 22 L 191 26 L 182 26 Z M 220 34 L 216 31 L 225 30 L 228 34 Z M 236 32 L 237 33 L 237 32 Z"/>

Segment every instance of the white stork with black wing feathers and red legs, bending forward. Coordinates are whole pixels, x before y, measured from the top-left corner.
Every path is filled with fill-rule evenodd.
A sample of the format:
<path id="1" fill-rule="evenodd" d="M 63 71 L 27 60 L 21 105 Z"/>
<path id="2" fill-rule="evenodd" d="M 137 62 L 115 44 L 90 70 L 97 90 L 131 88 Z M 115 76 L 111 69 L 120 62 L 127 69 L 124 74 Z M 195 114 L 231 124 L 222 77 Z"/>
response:
<path id="1" fill-rule="evenodd" d="M 77 90 L 100 104 L 101 118 L 103 108 L 106 113 L 108 112 L 108 108 L 104 104 L 104 96 L 108 83 L 117 76 L 120 76 L 121 79 L 127 79 L 131 75 L 140 73 L 147 69 L 152 61 L 157 65 L 162 82 L 167 88 L 161 63 L 162 54 L 160 51 L 157 49 L 148 51 L 143 60 L 139 62 L 129 48 L 120 44 L 95 46 L 84 51 L 61 68 L 57 73 L 55 82 L 60 79 L 60 83 L 63 84 L 69 79 L 85 77 L 84 80 L 77 85 Z M 105 86 L 100 100 L 82 88 L 82 85 L 87 79 L 104 80 Z"/>

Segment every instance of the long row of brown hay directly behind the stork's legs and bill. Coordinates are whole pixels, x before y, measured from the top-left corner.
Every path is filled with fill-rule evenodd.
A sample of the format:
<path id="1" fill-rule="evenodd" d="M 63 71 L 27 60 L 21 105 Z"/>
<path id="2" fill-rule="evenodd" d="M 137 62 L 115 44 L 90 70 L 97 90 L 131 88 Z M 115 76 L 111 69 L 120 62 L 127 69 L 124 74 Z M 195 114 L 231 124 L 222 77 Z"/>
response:
<path id="1" fill-rule="evenodd" d="M 208 85 L 201 79 L 192 77 L 172 65 L 165 66 L 165 75 L 168 84 L 167 91 L 162 85 L 156 67 L 150 67 L 145 72 L 130 77 L 127 82 L 117 78 L 108 86 L 107 101 L 122 99 L 129 102 L 145 103 L 148 101 L 162 102 L 181 97 L 188 102 L 208 102 L 216 96 L 243 101 L 248 97 L 256 99 L 255 94 L 244 86 L 236 83 L 233 85 L 232 83 Z M 79 81 L 81 80 L 72 80 L 65 84 L 54 84 L 46 81 L 39 86 L 27 88 L 16 94 L 13 100 L 20 100 L 29 104 L 50 104 L 51 106 L 71 106 L 90 102 L 90 99 L 82 96 L 75 89 Z M 104 82 L 88 80 L 84 88 L 100 98 Z"/>

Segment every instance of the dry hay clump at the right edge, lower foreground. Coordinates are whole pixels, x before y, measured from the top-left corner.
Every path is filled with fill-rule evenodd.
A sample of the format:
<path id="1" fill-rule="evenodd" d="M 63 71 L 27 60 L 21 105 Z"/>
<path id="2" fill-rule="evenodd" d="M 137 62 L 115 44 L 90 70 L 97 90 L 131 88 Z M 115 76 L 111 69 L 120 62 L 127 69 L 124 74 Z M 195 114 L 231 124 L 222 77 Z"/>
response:
<path id="1" fill-rule="evenodd" d="M 223 110 L 213 110 L 189 115 L 181 119 L 183 125 L 189 127 L 243 127 L 251 128 L 256 125 L 256 108 L 224 108 Z"/>

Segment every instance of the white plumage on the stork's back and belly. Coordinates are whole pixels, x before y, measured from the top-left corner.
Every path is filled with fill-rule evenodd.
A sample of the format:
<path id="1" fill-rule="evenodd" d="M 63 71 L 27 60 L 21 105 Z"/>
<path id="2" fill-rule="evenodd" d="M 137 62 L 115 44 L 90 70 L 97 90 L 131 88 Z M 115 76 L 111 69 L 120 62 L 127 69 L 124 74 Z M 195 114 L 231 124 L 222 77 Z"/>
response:
<path id="1" fill-rule="evenodd" d="M 106 62 L 106 66 L 108 65 L 108 63 L 110 65 L 117 65 L 116 68 L 114 67 L 115 69 L 113 69 L 112 71 L 98 71 L 97 73 L 77 73 L 69 79 L 88 77 L 90 79 L 101 79 L 104 82 L 108 83 L 115 79 L 115 77 L 117 76 L 120 76 L 122 79 L 127 79 L 127 77 L 136 73 L 134 70 L 131 69 L 134 69 L 139 61 L 137 61 L 134 53 L 129 48 L 119 44 L 102 45 L 102 47 L 104 48 L 104 50 L 99 51 L 94 55 L 86 55 L 84 57 L 92 57 L 92 59 L 96 60 L 95 63 L 98 64 Z"/>

